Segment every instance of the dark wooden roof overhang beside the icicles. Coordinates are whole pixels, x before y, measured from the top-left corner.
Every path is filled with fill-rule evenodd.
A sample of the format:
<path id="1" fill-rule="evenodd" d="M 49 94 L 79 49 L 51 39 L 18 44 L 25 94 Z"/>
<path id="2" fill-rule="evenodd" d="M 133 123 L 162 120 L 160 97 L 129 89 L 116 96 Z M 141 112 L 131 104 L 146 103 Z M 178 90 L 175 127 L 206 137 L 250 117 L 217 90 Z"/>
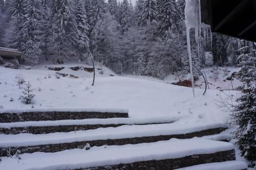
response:
<path id="1" fill-rule="evenodd" d="M 200 0 L 201 20 L 212 32 L 256 42 L 256 0 Z"/>

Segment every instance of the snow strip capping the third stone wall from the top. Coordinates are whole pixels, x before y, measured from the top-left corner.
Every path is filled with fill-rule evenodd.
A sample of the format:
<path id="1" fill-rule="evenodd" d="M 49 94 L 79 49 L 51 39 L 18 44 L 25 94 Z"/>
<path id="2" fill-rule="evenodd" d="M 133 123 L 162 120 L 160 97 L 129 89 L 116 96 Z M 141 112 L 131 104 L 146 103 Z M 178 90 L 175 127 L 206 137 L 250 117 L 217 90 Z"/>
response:
<path id="1" fill-rule="evenodd" d="M 0 147 L 33 146 L 40 144 L 72 143 L 80 141 L 124 139 L 161 135 L 178 135 L 204 131 L 207 129 L 226 128 L 226 124 L 169 124 L 123 125 L 117 128 L 99 128 L 96 130 L 76 131 L 51 134 L 0 134 Z"/>

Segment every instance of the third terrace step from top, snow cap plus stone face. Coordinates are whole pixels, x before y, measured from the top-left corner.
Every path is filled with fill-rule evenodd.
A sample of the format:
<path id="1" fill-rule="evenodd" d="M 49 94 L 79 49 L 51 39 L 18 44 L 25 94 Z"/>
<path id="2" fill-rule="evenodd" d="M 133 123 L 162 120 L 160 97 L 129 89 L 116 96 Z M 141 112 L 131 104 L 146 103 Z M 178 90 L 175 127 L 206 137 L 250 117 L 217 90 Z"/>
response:
<path id="1" fill-rule="evenodd" d="M 150 143 L 172 138 L 187 139 L 219 134 L 226 129 L 225 124 L 187 124 L 179 127 L 178 123 L 174 122 L 40 135 L 0 134 L 0 156 L 6 156 L 9 150 L 11 154 L 15 154 L 17 150 L 21 153 L 59 152 L 83 148 L 87 143 L 91 146 L 102 146 Z"/>

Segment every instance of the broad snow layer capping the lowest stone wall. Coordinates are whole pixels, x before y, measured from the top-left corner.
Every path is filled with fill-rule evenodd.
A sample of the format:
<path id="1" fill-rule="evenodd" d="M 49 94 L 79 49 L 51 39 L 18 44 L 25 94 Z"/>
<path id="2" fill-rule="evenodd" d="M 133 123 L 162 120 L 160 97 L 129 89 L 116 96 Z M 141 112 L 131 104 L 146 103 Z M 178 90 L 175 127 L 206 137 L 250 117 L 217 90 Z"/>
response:
<path id="1" fill-rule="evenodd" d="M 67 150 L 57 153 L 33 153 L 17 158 L 3 157 L 0 169 L 75 169 L 139 161 L 182 158 L 233 150 L 230 143 L 202 139 L 171 139 L 136 145 L 92 147 L 91 150 Z M 123 154 L 125 153 L 125 154 Z"/>

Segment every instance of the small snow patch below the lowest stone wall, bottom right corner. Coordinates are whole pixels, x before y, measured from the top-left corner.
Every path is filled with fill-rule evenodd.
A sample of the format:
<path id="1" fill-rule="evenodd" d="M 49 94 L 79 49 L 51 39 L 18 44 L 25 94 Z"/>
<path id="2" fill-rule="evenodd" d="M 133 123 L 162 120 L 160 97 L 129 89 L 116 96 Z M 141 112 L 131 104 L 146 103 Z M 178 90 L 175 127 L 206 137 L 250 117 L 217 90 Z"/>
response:
<path id="1" fill-rule="evenodd" d="M 242 161 L 226 161 L 226 162 L 217 162 L 217 163 L 207 163 L 196 166 L 190 166 L 185 168 L 180 168 L 177 170 L 242 170 L 246 169 L 246 163 Z"/>

